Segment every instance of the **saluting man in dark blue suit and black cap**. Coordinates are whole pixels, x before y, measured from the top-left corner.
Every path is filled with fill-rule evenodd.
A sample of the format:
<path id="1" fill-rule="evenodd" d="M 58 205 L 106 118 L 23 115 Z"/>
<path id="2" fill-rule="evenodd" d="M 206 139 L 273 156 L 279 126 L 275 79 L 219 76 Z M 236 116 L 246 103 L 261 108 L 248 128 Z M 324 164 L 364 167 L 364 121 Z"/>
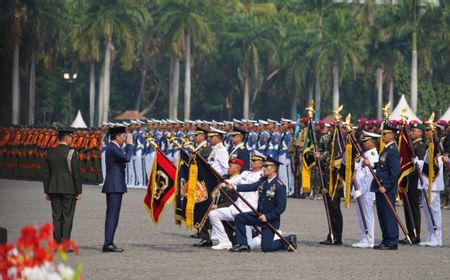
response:
<path id="1" fill-rule="evenodd" d="M 106 176 L 102 192 L 106 193 L 105 241 L 103 252 L 123 252 L 122 248 L 114 245 L 114 234 L 119 222 L 122 196 L 127 192 L 125 183 L 125 167 L 130 162 L 134 152 L 133 136 L 125 135 L 125 127 L 109 129 L 111 142 L 106 147 L 105 162 Z M 125 149 L 122 145 L 126 143 Z"/>

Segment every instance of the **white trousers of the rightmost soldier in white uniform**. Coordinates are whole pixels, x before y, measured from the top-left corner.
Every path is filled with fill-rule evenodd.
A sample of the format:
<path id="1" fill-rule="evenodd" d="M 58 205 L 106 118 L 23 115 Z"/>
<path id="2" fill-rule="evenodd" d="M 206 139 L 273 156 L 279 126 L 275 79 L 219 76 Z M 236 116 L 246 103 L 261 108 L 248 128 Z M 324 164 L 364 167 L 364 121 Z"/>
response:
<path id="1" fill-rule="evenodd" d="M 425 197 L 422 194 L 422 211 L 427 222 L 428 238 L 426 242 L 437 242 L 442 244 L 442 217 L 441 217 L 441 192 L 432 191 L 431 192 L 431 213 L 433 214 L 434 221 L 437 226 L 437 236 L 434 234 L 433 223 L 431 222 L 430 214 L 428 212 L 428 207 L 426 205 Z"/>

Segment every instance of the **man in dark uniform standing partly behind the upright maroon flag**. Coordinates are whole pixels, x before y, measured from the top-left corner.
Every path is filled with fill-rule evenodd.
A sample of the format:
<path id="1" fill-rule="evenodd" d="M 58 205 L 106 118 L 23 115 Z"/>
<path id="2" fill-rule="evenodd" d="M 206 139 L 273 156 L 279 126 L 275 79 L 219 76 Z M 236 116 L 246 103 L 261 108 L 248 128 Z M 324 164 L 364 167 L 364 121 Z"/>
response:
<path id="1" fill-rule="evenodd" d="M 425 126 L 418 122 L 411 123 L 410 136 L 412 141 L 412 148 L 414 149 L 414 153 L 416 154 L 419 160 L 423 160 L 425 156 L 425 152 L 427 151 L 427 147 L 423 142 L 423 134 L 425 132 Z M 417 185 L 419 183 L 419 176 L 417 172 L 413 172 L 408 175 L 408 188 L 400 189 L 402 193 L 408 196 L 409 205 L 411 207 L 411 214 L 414 220 L 414 225 L 416 227 L 417 237 L 414 235 L 414 227 L 411 221 L 411 217 L 407 212 L 407 207 L 403 207 L 405 210 L 405 220 L 406 220 L 406 228 L 408 229 L 408 236 L 411 239 L 412 244 L 420 243 L 420 195 L 421 191 L 417 189 Z M 403 239 L 399 241 L 401 244 L 409 244 L 407 239 Z"/>

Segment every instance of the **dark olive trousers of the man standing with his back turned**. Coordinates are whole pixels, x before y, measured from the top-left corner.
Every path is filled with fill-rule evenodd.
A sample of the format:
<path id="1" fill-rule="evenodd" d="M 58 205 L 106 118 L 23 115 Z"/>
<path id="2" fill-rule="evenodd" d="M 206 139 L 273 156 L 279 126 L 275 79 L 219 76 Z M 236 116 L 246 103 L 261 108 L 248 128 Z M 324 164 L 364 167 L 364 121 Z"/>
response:
<path id="1" fill-rule="evenodd" d="M 61 243 L 70 239 L 76 199 L 73 194 L 49 194 L 52 205 L 53 239 Z"/>

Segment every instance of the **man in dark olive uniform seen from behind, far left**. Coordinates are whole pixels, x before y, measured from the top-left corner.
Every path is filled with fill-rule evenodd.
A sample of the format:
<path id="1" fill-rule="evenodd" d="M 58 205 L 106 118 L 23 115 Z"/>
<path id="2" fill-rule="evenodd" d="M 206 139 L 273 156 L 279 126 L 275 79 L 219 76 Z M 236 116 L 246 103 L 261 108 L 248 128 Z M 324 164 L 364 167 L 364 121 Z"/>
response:
<path id="1" fill-rule="evenodd" d="M 76 201 L 81 198 L 81 176 L 78 153 L 69 148 L 71 129 L 59 131 L 59 146 L 50 149 L 44 161 L 44 193 L 51 201 L 53 238 L 69 240 Z"/>

